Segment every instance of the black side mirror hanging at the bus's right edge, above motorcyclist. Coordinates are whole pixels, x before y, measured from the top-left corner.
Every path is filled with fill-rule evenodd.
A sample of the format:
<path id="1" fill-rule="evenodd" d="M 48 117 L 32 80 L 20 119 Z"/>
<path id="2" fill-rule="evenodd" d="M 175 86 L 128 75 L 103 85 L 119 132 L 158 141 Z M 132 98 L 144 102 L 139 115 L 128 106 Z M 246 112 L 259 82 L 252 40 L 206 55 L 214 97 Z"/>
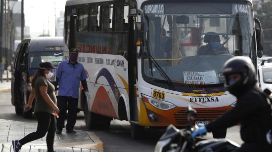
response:
<path id="1" fill-rule="evenodd" d="M 264 31 L 262 29 L 260 20 L 257 18 L 254 18 L 254 21 L 258 25 L 258 28 L 256 28 L 256 25 L 255 25 L 255 33 L 256 33 L 256 41 L 257 41 L 257 50 L 259 52 L 259 51 L 262 51 L 264 48 Z"/>

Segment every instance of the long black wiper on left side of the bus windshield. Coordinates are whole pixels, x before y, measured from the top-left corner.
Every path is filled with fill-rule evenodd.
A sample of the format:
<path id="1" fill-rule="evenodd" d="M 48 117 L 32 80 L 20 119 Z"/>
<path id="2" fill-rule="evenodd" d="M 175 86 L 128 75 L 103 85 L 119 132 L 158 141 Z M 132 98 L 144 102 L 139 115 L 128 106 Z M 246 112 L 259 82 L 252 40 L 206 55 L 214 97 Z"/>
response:
<path id="1" fill-rule="evenodd" d="M 172 87 L 174 90 L 176 90 L 175 89 L 176 87 L 175 87 L 173 81 L 169 78 L 169 76 L 167 76 L 167 74 L 163 71 L 163 69 L 161 68 L 161 66 L 152 57 L 152 55 L 150 53 L 150 50 L 149 50 L 149 43 L 147 42 L 147 40 L 145 38 L 144 38 L 144 41 L 145 41 L 145 46 L 146 46 L 146 50 L 147 50 L 147 53 L 148 53 L 149 68 L 150 68 L 150 71 L 151 71 L 151 75 L 153 76 L 153 69 L 152 69 L 152 63 L 151 63 L 151 62 L 153 62 L 154 65 L 157 67 L 158 71 L 160 72 L 161 76 L 163 76 L 167 80 L 169 86 Z"/>

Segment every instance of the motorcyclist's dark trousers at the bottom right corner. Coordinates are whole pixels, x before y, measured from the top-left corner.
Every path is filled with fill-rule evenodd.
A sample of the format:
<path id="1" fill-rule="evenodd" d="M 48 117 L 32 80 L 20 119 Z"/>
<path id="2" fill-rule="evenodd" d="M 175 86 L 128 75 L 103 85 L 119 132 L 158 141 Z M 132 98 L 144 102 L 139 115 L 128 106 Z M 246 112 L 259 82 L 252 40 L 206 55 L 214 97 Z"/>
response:
<path id="1" fill-rule="evenodd" d="M 240 148 L 232 152 L 272 152 L 272 147 L 257 143 L 244 143 Z"/>

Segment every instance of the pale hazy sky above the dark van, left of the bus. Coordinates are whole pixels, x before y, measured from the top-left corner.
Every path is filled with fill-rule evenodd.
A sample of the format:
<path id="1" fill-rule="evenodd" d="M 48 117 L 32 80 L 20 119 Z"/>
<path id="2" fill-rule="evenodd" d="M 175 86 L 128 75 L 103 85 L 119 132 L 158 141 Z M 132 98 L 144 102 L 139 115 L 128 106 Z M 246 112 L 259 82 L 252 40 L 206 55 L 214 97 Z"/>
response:
<path id="1" fill-rule="evenodd" d="M 24 0 L 25 25 L 30 26 L 31 37 L 45 34 L 55 36 L 55 7 L 56 17 L 64 11 L 66 0 Z"/>

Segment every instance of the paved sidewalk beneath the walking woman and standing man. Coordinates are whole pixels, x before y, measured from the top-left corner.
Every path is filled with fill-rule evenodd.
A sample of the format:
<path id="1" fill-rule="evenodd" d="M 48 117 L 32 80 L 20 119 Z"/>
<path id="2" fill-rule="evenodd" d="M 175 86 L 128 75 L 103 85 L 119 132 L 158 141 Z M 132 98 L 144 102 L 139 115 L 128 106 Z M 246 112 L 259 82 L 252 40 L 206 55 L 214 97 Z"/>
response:
<path id="1" fill-rule="evenodd" d="M 0 119 L 0 152 L 12 152 L 12 140 L 21 139 L 35 132 L 37 124 Z M 56 152 L 103 152 L 103 143 L 93 132 L 76 130 L 76 134 L 55 135 Z M 24 145 L 20 152 L 47 152 L 46 135 L 44 138 Z"/>

